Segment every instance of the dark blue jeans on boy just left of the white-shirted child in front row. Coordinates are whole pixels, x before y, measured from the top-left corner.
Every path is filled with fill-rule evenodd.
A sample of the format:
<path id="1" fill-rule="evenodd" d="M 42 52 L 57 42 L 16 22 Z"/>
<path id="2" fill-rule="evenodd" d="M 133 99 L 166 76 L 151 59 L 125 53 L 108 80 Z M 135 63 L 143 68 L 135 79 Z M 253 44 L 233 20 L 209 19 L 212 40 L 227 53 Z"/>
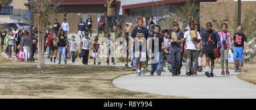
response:
<path id="1" fill-rule="evenodd" d="M 171 50 L 171 67 L 172 73 L 176 73 L 181 69 L 181 50 Z"/>

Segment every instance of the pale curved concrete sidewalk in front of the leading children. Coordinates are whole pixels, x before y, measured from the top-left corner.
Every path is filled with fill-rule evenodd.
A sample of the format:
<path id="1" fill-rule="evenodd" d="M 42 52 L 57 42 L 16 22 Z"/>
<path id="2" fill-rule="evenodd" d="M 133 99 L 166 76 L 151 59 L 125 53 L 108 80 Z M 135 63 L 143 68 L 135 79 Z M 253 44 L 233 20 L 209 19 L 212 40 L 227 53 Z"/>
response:
<path id="1" fill-rule="evenodd" d="M 115 79 L 113 84 L 130 91 L 188 98 L 256 98 L 256 85 L 238 79 L 234 70 L 230 70 L 231 75 L 222 76 L 221 69 L 214 69 L 217 77 L 213 78 L 205 77 L 204 72 L 185 77 L 184 66 L 178 77 L 171 77 L 171 73 L 166 68 L 164 70 L 166 72 L 161 76 L 156 76 L 156 73 L 153 77 L 150 73 L 146 73 L 145 77 L 126 75 Z"/>

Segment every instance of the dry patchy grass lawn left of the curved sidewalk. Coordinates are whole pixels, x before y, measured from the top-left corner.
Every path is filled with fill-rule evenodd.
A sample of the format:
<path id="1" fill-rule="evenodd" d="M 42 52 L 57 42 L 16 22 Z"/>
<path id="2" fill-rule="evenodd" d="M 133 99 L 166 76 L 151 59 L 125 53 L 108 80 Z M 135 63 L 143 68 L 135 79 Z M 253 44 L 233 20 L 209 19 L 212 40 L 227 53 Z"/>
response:
<path id="1" fill-rule="evenodd" d="M 133 92 L 112 81 L 132 74 L 115 66 L 0 64 L 0 98 L 184 98 Z"/>

